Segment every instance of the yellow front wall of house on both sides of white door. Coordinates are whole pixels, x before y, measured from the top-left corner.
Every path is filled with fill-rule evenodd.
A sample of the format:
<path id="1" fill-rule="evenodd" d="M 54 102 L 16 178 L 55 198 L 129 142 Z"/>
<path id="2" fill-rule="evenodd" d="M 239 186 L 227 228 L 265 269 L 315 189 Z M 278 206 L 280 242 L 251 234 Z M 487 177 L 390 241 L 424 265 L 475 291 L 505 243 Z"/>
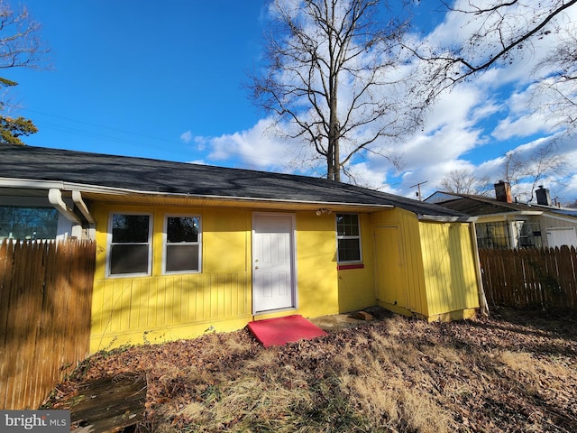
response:
<path id="1" fill-rule="evenodd" d="M 151 275 L 107 278 L 108 218 L 111 212 L 131 211 L 152 215 Z M 355 299 L 361 296 L 358 293 L 342 296 L 339 290 L 334 214 L 320 217 L 315 212 L 295 214 L 298 308 L 254 317 L 252 209 L 151 209 L 96 203 L 92 213 L 96 219 L 97 247 L 91 353 L 121 345 L 160 343 L 200 336 L 205 332 L 232 331 L 243 328 L 252 319 L 290 314 L 307 318 L 336 314 L 354 309 Z M 201 217 L 201 272 L 162 275 L 165 214 Z M 370 245 L 366 247 L 370 248 Z M 370 293 L 372 286 L 366 290 Z"/>

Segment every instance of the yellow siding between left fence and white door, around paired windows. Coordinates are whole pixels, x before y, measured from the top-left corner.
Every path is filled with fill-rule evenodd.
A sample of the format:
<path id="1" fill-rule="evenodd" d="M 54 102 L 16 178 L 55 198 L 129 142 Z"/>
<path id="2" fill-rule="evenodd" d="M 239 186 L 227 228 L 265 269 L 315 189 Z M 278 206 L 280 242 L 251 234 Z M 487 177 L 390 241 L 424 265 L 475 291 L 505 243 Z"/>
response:
<path id="1" fill-rule="evenodd" d="M 151 276 L 105 278 L 106 232 L 112 211 L 151 213 Z M 202 218 L 202 272 L 162 275 L 166 214 Z M 91 352 L 199 336 L 207 329 L 234 330 L 252 319 L 249 210 L 163 207 L 150 211 L 96 204 L 93 215 L 97 248 Z"/>

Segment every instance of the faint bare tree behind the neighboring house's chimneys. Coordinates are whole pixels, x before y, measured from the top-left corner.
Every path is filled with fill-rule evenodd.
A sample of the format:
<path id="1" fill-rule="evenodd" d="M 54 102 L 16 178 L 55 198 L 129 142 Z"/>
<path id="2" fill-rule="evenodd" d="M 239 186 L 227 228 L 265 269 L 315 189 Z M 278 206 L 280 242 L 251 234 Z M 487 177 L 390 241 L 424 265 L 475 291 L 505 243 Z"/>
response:
<path id="1" fill-rule="evenodd" d="M 536 147 L 532 152 L 521 150 L 505 154 L 503 178 L 517 194 L 527 195 L 532 201 L 539 182 L 550 175 L 562 175 L 567 167 L 564 156 L 557 152 L 557 145 L 549 141 Z"/>

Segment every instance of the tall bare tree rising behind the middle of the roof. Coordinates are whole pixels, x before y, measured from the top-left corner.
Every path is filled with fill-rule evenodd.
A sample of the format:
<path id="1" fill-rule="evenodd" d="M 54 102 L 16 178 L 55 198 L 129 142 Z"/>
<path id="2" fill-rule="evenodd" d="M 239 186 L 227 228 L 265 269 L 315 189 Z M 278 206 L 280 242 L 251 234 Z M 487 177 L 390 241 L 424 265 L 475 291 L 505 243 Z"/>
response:
<path id="1" fill-rule="evenodd" d="M 408 21 L 378 20 L 386 0 L 272 0 L 266 68 L 252 97 L 285 134 L 311 146 L 326 177 L 341 180 L 353 157 L 379 153 L 412 131 L 418 104 L 403 97 L 400 39 Z M 380 15 L 379 15 L 380 14 Z"/>

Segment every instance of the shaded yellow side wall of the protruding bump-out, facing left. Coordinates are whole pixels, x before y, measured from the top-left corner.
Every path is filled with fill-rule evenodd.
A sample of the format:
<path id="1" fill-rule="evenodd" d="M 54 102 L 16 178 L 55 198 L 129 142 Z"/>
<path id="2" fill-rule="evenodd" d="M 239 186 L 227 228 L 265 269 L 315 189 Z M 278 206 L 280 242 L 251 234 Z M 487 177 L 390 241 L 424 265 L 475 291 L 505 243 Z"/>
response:
<path id="1" fill-rule="evenodd" d="M 402 209 L 371 215 L 375 231 L 377 303 L 392 311 L 427 315 L 417 217 Z"/>

